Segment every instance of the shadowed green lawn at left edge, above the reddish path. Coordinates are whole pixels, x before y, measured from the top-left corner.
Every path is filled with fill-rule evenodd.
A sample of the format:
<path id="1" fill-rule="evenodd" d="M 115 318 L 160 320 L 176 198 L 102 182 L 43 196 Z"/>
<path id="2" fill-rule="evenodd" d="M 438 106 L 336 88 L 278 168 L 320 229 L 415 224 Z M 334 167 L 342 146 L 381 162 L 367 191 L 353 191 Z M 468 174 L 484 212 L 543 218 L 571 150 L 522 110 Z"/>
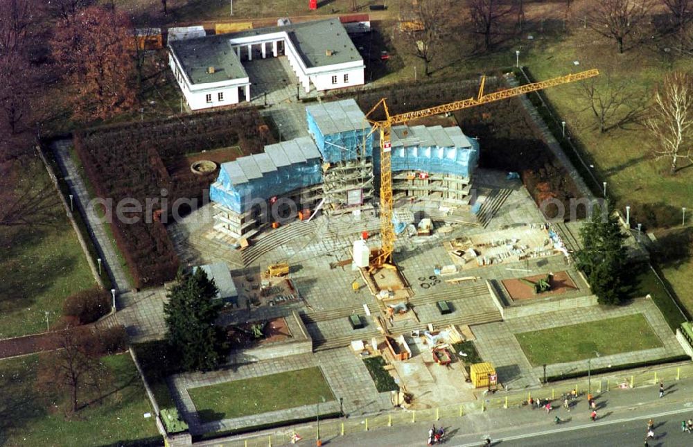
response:
<path id="1" fill-rule="evenodd" d="M 32 158 L 21 170 L 17 190 L 40 194 L 48 205 L 36 218 L 40 225 L 0 226 L 0 338 L 46 331 L 46 311 L 55 323 L 65 297 L 95 285 L 43 164 Z"/>

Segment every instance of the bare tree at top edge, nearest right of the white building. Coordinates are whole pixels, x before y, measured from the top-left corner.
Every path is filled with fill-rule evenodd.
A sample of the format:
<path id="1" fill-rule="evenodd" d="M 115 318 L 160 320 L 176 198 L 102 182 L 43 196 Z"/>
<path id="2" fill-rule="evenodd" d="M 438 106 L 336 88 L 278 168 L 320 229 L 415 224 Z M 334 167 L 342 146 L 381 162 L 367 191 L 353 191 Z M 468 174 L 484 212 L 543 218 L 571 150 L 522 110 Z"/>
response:
<path id="1" fill-rule="evenodd" d="M 423 71 L 430 76 L 430 64 L 439 53 L 441 41 L 450 26 L 450 0 L 419 0 L 412 6 L 410 29 L 404 30 L 413 54 L 423 61 Z"/>

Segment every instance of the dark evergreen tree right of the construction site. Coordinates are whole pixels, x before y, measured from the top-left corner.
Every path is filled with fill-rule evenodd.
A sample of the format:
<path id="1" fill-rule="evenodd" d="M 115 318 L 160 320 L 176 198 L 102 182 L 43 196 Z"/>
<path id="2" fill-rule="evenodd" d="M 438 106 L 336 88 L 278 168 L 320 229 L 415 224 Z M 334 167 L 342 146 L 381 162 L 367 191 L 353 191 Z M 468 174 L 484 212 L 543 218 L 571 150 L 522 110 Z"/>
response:
<path id="1" fill-rule="evenodd" d="M 577 266 L 587 275 L 592 292 L 600 304 L 620 304 L 625 292 L 626 235 L 608 200 L 595 207 L 580 237 L 583 249 L 577 254 Z"/>

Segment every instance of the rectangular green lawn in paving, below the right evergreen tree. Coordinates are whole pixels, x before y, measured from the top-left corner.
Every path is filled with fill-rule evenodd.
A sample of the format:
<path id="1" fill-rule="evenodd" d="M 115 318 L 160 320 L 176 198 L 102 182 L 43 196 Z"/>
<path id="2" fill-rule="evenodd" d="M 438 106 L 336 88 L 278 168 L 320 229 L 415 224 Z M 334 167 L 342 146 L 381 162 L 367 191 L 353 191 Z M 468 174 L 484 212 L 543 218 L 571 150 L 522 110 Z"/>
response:
<path id="1" fill-rule="evenodd" d="M 662 347 L 642 314 L 515 334 L 534 366 Z"/>

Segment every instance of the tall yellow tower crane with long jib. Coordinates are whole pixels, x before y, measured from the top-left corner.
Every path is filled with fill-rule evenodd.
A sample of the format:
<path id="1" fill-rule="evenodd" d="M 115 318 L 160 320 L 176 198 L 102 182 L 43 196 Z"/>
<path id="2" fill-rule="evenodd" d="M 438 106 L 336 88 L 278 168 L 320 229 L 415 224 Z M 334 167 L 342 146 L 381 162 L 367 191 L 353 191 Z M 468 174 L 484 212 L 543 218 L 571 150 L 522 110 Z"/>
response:
<path id="1" fill-rule="evenodd" d="M 421 109 L 416 110 L 415 112 L 406 112 L 397 115 L 389 114 L 389 109 L 387 108 L 385 98 L 379 100 L 378 103 L 374 105 L 374 107 L 366 114 L 366 119 L 368 119 L 369 123 L 373 125 L 371 132 L 380 132 L 380 237 L 382 239 L 382 245 L 378 254 L 374 256 L 371 261 L 371 268 L 381 268 L 383 265 L 392 264 L 392 250 L 394 249 L 395 234 L 394 224 L 392 223 L 392 166 L 390 164 L 392 142 L 390 141 L 390 130 L 392 129 L 393 125 L 405 123 L 412 119 L 423 118 L 424 116 L 455 112 L 468 107 L 492 103 L 493 101 L 519 96 L 529 93 L 530 91 L 537 91 L 547 87 L 553 87 L 554 85 L 567 84 L 568 82 L 592 78 L 593 76 L 597 75 L 599 75 L 599 71 L 597 71 L 597 69 L 592 69 L 565 76 L 559 76 L 558 78 L 543 80 L 541 82 L 521 85 L 520 87 L 494 91 L 493 93 L 489 94 L 484 94 L 484 82 L 486 80 L 486 77 L 484 76 L 482 77 L 479 93 L 477 94 L 476 98 L 468 98 L 455 101 L 453 103 L 428 107 L 428 109 Z M 371 114 L 373 114 L 381 105 L 383 106 L 383 111 L 385 112 L 385 119 L 382 121 L 369 119 L 369 116 L 371 116 Z"/>

